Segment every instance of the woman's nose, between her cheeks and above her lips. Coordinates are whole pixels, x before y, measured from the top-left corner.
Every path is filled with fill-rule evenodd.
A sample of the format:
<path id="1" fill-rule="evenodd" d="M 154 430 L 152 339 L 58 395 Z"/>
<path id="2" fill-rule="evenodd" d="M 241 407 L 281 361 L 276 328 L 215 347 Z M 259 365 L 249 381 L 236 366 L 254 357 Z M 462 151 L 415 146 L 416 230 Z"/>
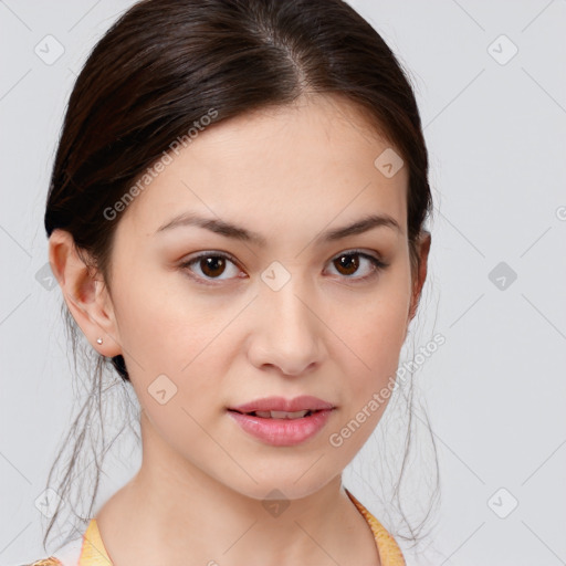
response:
<path id="1" fill-rule="evenodd" d="M 275 367 L 285 375 L 312 371 L 321 364 L 324 324 L 313 294 L 291 280 L 279 291 L 262 285 L 254 302 L 249 357 L 259 368 Z"/>

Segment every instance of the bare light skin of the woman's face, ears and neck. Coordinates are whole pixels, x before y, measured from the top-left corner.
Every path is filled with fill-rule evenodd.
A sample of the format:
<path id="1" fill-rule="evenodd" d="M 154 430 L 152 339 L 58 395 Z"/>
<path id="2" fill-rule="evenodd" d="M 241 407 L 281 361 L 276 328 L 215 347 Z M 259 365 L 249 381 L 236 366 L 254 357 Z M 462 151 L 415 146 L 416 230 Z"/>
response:
<path id="1" fill-rule="evenodd" d="M 124 356 L 142 406 L 143 464 L 96 517 L 115 566 L 380 564 L 342 472 L 387 405 L 340 447 L 328 437 L 395 375 L 426 280 L 428 232 L 420 270 L 410 270 L 408 170 L 387 178 L 374 166 L 388 147 L 348 103 L 303 96 L 210 126 L 174 155 L 119 220 L 108 285 L 88 275 L 69 233 L 52 234 L 69 308 L 102 355 Z M 155 233 L 181 211 L 253 230 L 266 244 L 198 227 Z M 314 241 L 368 213 L 400 230 Z M 352 249 L 389 265 L 360 281 L 368 260 L 357 256 L 357 271 L 336 260 Z M 180 266 L 202 251 L 237 263 Z M 291 274 L 279 291 L 261 279 L 273 261 Z M 177 387 L 165 405 L 148 392 L 160 374 Z M 316 437 L 272 447 L 226 410 L 272 395 L 337 408 Z M 276 517 L 262 504 L 274 489 L 291 503 Z"/>

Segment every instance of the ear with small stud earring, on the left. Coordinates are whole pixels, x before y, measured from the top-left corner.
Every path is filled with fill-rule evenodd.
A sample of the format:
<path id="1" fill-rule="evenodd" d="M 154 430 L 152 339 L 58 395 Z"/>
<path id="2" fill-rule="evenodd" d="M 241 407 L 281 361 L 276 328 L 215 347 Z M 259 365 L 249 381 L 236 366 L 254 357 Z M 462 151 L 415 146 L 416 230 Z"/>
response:
<path id="1" fill-rule="evenodd" d="M 87 256 L 86 252 L 82 252 Z M 74 239 L 65 230 L 54 230 L 49 239 L 49 262 L 66 305 L 87 340 L 103 356 L 122 354 L 114 306 L 102 274 L 87 269 L 78 256 Z M 94 271 L 94 273 L 93 273 Z M 96 339 L 103 343 L 97 344 Z"/>

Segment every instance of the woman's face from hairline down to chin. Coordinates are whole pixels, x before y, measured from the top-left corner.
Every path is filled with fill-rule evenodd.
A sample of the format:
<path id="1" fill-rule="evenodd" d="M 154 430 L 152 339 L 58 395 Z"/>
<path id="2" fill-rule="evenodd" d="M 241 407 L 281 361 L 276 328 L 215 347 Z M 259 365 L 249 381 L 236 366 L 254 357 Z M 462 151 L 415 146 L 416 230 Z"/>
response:
<path id="1" fill-rule="evenodd" d="M 386 408 L 371 399 L 390 388 L 415 300 L 408 171 L 384 167 L 390 151 L 345 103 L 302 98 L 205 128 L 135 197 L 109 286 L 146 460 L 166 454 L 242 494 L 295 499 L 359 451 Z M 179 214 L 202 220 L 170 224 Z M 370 216 L 386 220 L 340 234 Z M 334 409 L 311 436 L 319 416 L 294 436 L 289 421 L 244 418 L 263 420 L 261 438 L 229 410 L 272 396 Z"/>

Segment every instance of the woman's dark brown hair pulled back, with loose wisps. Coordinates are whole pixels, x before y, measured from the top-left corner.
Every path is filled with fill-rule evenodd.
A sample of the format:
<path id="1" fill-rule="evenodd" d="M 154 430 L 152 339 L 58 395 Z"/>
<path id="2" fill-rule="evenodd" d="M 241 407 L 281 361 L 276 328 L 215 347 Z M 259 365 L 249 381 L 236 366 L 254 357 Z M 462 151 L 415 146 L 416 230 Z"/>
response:
<path id="1" fill-rule="evenodd" d="M 402 156 L 416 273 L 417 239 L 432 209 L 417 103 L 391 50 L 342 0 L 145 0 L 130 8 L 95 45 L 71 94 L 46 199 L 48 237 L 69 231 L 111 291 L 109 256 L 120 214 L 108 220 L 104 210 L 210 108 L 220 123 L 290 104 L 304 93 L 347 99 Z M 64 305 L 63 311 L 76 368 L 76 325 Z M 112 364 L 128 381 L 124 358 Z M 60 496 L 69 491 L 92 403 L 101 410 L 106 367 L 98 356 L 95 377 L 88 377 L 91 395 L 72 427 L 76 432 L 84 421 Z M 91 505 L 98 476 L 99 470 Z"/>

